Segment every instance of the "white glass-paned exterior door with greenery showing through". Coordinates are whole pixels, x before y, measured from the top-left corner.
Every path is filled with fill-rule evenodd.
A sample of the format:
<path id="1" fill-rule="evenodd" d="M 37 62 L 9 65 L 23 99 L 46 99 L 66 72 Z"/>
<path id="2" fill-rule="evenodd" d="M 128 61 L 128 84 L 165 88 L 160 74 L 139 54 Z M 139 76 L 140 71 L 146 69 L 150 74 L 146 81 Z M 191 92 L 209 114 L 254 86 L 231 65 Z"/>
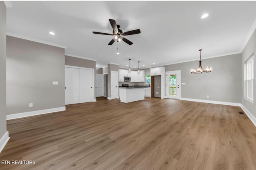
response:
<path id="1" fill-rule="evenodd" d="M 166 72 L 166 98 L 180 99 L 180 70 Z"/>

